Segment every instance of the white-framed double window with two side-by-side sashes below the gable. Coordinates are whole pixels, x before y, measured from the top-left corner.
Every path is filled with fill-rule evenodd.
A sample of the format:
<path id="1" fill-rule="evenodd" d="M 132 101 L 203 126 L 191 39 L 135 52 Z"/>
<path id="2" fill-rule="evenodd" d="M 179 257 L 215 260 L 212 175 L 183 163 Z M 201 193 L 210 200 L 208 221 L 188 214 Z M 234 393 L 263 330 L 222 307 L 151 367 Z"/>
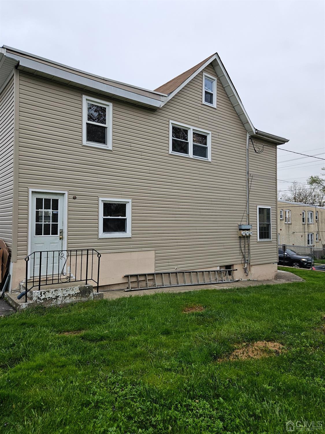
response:
<path id="1" fill-rule="evenodd" d="M 211 161 L 211 132 L 169 121 L 169 154 Z"/>

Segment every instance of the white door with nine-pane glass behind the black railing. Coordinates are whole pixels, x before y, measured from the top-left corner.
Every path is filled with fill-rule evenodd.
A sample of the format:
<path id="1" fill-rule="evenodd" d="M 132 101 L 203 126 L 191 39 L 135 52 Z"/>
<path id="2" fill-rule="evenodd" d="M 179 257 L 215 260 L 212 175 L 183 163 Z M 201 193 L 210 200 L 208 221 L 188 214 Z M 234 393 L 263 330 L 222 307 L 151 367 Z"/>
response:
<path id="1" fill-rule="evenodd" d="M 29 276 L 41 276 L 62 272 L 65 264 L 64 246 L 64 195 L 62 193 L 33 192 L 31 201 Z M 40 253 L 42 258 L 40 258 Z M 60 256 L 61 255 L 61 256 Z M 42 259 L 41 270 L 39 270 Z"/>

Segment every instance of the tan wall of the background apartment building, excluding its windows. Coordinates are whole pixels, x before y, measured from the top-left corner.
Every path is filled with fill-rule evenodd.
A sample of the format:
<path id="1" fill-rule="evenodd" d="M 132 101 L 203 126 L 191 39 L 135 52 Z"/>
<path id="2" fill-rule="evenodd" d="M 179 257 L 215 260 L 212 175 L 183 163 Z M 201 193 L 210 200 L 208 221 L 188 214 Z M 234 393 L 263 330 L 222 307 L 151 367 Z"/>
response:
<path id="1" fill-rule="evenodd" d="M 280 210 L 283 210 L 283 219 L 281 220 Z M 285 210 L 291 211 L 291 223 L 285 223 Z M 305 224 L 302 223 L 302 211 L 306 212 Z M 308 211 L 313 211 L 314 223 L 307 223 Z M 316 211 L 318 211 L 318 221 L 315 220 Z M 325 245 L 325 208 L 278 201 L 277 219 L 280 244 L 307 246 L 307 235 L 313 233 L 314 247 L 322 248 L 323 244 Z M 319 241 L 316 241 L 316 232 L 319 233 Z"/>

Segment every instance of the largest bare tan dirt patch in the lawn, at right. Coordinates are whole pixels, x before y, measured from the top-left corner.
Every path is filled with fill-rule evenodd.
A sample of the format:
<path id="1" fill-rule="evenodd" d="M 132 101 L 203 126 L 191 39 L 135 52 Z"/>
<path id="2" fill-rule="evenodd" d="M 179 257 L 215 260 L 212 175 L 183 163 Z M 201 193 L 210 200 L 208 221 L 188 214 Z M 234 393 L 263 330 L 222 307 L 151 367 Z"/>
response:
<path id="1" fill-rule="evenodd" d="M 218 359 L 218 362 L 226 360 L 247 360 L 248 358 L 262 358 L 279 355 L 284 352 L 283 345 L 278 342 L 258 341 L 253 343 L 243 343 L 233 351 L 227 358 Z"/>

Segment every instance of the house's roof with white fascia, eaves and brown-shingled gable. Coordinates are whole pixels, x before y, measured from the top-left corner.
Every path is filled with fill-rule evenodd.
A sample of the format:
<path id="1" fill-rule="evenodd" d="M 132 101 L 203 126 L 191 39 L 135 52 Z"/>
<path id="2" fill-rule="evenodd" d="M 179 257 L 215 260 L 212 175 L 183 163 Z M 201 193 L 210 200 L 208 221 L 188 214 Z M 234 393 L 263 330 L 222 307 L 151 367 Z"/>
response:
<path id="1" fill-rule="evenodd" d="M 0 90 L 12 75 L 13 68 L 17 68 L 36 76 L 45 77 L 66 85 L 73 85 L 84 91 L 96 92 L 100 95 L 157 110 L 163 107 L 209 64 L 214 68 L 237 115 L 251 137 L 268 141 L 274 145 L 283 145 L 289 141 L 283 137 L 258 131 L 253 126 L 218 53 L 202 60 L 202 62 L 174 79 L 169 80 L 169 82 L 158 87 L 156 90 L 148 90 L 97 76 L 89 72 L 80 71 L 71 66 L 62 65 L 61 63 L 53 62 L 52 60 L 34 56 L 33 54 L 4 45 L 0 48 Z"/>

